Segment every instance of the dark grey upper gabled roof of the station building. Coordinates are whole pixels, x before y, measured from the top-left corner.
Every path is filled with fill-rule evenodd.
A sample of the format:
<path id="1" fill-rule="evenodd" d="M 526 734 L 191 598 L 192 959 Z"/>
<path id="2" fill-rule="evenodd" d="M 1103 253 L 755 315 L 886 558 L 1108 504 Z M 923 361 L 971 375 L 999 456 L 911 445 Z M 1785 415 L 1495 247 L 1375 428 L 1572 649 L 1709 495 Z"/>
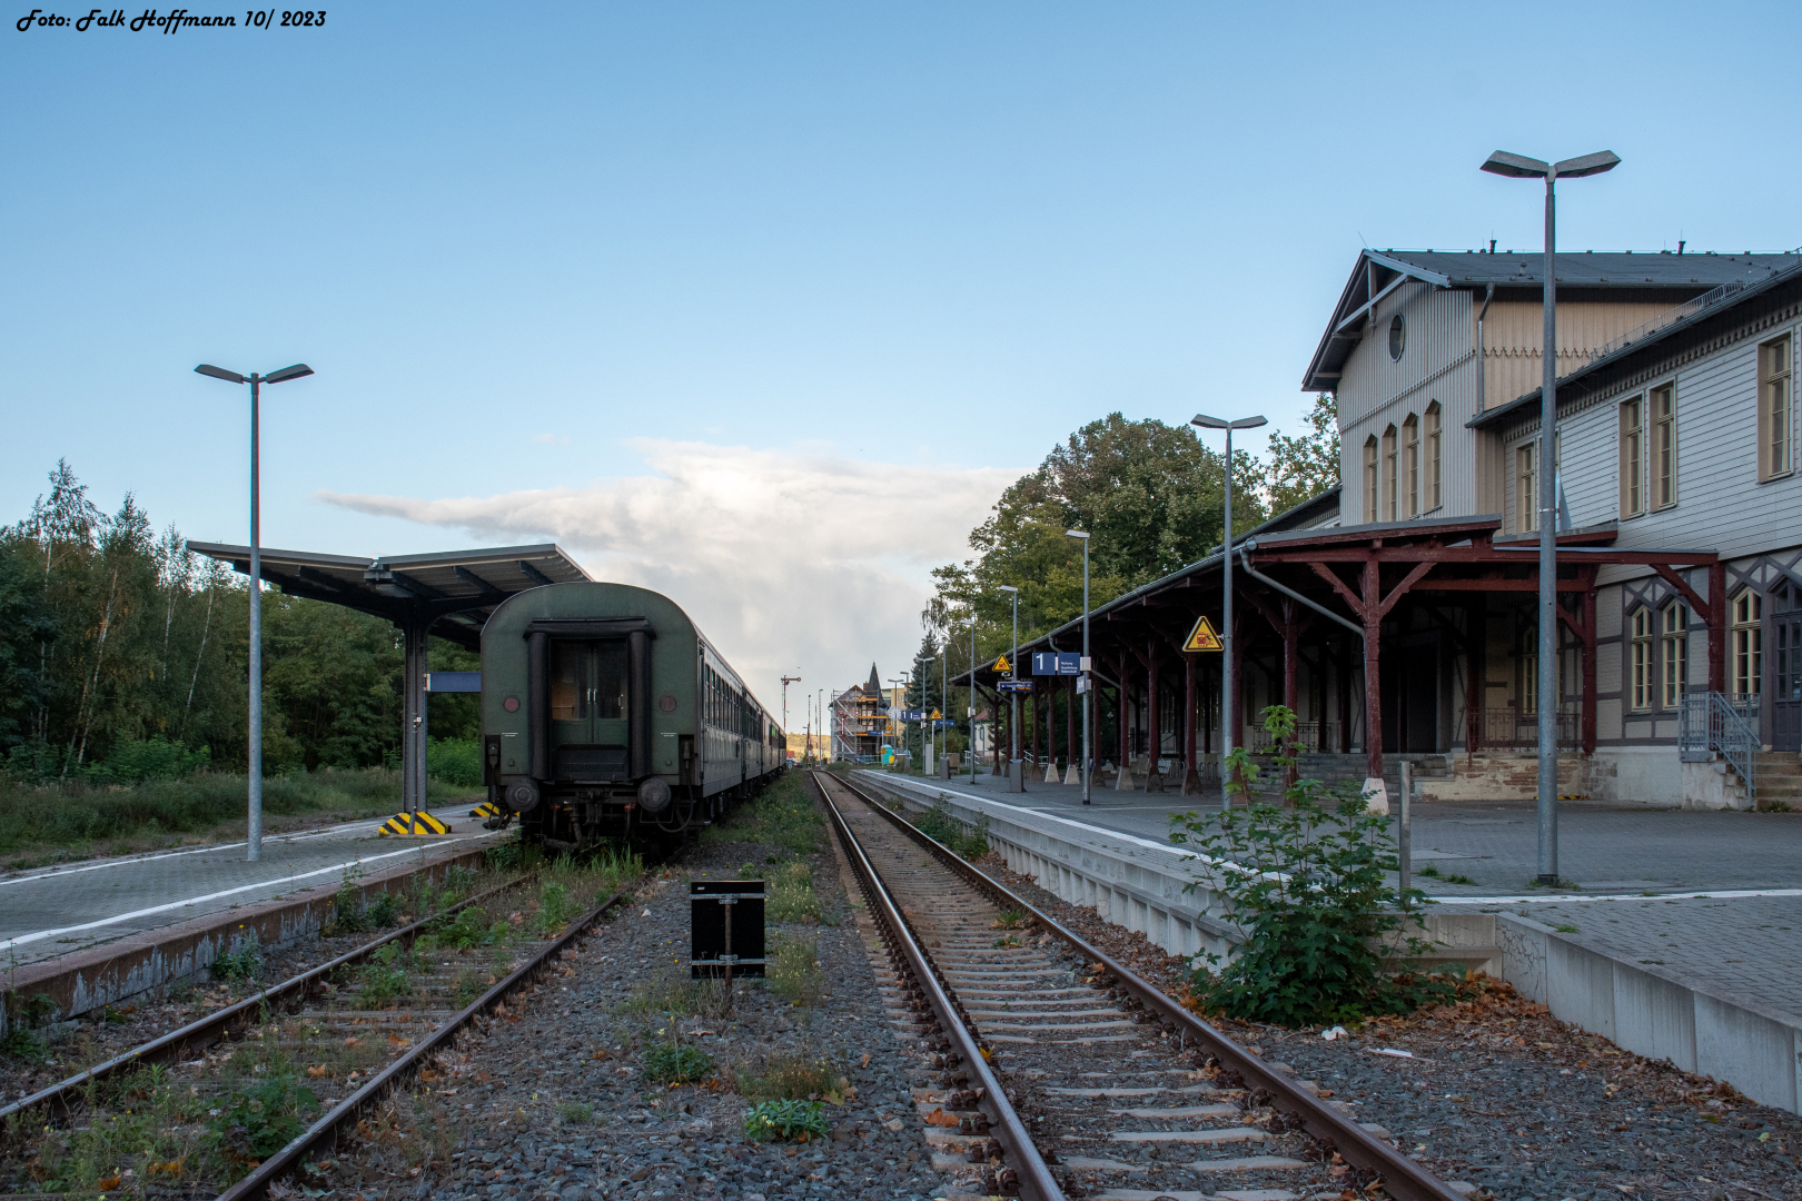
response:
<path id="1" fill-rule="evenodd" d="M 1409 279 L 1434 288 L 1544 286 L 1546 256 L 1487 250 L 1362 250 L 1339 293 L 1321 344 L 1301 378 L 1306 393 L 1332 391 L 1352 348 L 1364 339 L 1368 313 Z M 1561 288 L 1669 290 L 1672 304 L 1730 281 L 1759 283 L 1797 263 L 1797 254 L 1636 254 L 1631 250 L 1577 250 L 1557 254 Z"/>

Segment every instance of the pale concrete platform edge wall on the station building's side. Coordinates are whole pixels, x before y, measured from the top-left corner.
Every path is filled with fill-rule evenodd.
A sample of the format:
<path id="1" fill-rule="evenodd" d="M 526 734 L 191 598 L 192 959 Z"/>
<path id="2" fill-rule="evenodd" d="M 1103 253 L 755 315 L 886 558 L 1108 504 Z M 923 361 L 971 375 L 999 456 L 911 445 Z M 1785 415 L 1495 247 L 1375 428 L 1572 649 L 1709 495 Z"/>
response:
<path id="1" fill-rule="evenodd" d="M 1231 953 L 1236 931 L 1207 917 L 1213 891 L 1182 888 L 1206 879 L 1079 843 L 1007 805 L 948 792 L 932 781 L 888 772 L 856 772 L 858 781 L 908 808 L 924 810 L 941 798 L 962 821 L 989 819 L 989 844 L 1009 870 L 1038 879 L 1061 900 L 1096 909 L 1169 951 Z M 1067 826 L 1065 826 L 1067 828 Z M 1555 1017 L 1598 1034 L 1647 1059 L 1669 1059 L 1683 1071 L 1725 1080 L 1752 1100 L 1802 1113 L 1802 1019 L 1716 992 L 1660 965 L 1627 963 L 1582 938 L 1512 913 L 1429 913 L 1424 935 L 1512 983 L 1521 996 L 1546 1005 Z M 1202 945 L 1206 944 L 1206 947 Z M 1456 954 L 1460 949 L 1469 954 Z M 1481 960 L 1481 962 L 1479 962 Z"/>

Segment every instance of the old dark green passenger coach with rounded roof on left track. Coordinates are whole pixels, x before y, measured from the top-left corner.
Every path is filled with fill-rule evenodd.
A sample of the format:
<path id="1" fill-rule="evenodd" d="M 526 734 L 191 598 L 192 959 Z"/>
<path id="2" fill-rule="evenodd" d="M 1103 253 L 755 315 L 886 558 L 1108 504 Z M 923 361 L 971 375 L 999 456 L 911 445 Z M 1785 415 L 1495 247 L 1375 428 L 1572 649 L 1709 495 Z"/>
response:
<path id="1" fill-rule="evenodd" d="M 692 835 L 787 763 L 744 681 L 667 596 L 550 583 L 481 630 L 483 776 L 551 850 Z"/>

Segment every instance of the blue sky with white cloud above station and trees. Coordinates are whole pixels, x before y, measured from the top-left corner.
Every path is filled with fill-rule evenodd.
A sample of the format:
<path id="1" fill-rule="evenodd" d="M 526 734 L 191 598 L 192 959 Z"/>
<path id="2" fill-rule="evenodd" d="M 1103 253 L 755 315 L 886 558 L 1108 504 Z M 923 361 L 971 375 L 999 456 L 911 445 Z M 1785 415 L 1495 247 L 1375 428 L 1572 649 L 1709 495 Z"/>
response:
<path id="1" fill-rule="evenodd" d="M 243 398 L 191 369 L 306 360 L 265 542 L 555 537 L 757 677 L 899 666 L 924 569 L 1087 420 L 1294 429 L 1361 245 L 1539 245 L 1492 149 L 1622 155 L 1562 189 L 1571 248 L 1802 243 L 1793 5 L 29 11 L 0 519 L 67 456 L 241 540 Z"/>

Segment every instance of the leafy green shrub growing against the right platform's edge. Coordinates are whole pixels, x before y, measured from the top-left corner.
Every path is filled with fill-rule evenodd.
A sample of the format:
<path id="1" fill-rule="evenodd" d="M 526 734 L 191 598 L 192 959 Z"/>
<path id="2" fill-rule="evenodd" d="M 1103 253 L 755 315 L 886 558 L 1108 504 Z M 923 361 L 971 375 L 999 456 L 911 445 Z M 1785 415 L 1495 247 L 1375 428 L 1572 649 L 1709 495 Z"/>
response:
<path id="1" fill-rule="evenodd" d="M 1263 727 L 1287 778 L 1299 758 L 1296 715 L 1270 706 Z M 1427 999 L 1425 976 L 1382 974 L 1379 947 L 1404 922 L 1389 908 L 1398 897 L 1384 873 L 1395 857 L 1388 814 L 1370 812 L 1355 785 L 1330 790 L 1319 780 L 1278 785 L 1283 805 L 1272 805 L 1260 798 L 1260 769 L 1243 747 L 1227 756 L 1225 771 L 1229 794 L 1249 807 L 1171 817 L 1179 826 L 1171 841 L 1215 861 L 1211 886 L 1242 935 L 1225 967 L 1216 954 L 1198 956 L 1206 967 L 1193 974 L 1197 998 L 1233 1017 L 1283 1026 L 1407 1012 Z M 1425 897 L 1409 889 L 1406 900 Z M 1416 938 L 1402 944 L 1425 951 Z"/>

